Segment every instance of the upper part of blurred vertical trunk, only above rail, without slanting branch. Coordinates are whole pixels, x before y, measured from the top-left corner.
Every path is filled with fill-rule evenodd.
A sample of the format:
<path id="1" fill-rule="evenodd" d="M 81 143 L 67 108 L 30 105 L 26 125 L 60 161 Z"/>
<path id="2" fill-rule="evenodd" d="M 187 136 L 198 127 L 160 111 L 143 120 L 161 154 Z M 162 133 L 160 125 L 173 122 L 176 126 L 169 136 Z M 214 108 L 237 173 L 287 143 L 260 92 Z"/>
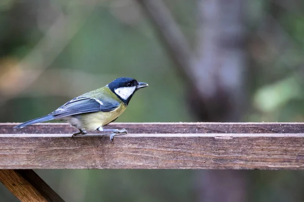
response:
<path id="1" fill-rule="evenodd" d="M 201 0 L 199 43 L 193 67 L 197 96 L 191 98 L 193 113 L 201 121 L 239 121 L 246 101 L 246 50 L 243 1 Z"/>

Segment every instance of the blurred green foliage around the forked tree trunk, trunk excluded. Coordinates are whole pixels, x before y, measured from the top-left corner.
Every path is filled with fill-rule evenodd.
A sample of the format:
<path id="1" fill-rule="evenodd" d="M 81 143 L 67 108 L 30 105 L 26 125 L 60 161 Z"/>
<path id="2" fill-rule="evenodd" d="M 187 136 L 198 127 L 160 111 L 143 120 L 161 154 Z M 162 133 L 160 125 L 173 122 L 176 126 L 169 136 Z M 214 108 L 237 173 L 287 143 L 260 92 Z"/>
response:
<path id="1" fill-rule="evenodd" d="M 165 3 L 195 49 L 197 2 Z M 303 11 L 303 3 L 295 0 L 246 2 L 251 107 L 244 121 L 304 121 Z M 35 53 L 60 16 L 68 23 L 62 22 L 55 32 L 64 36 L 47 39 L 54 47 L 67 45 Z M 187 86 L 134 1 L 2 0 L 0 30 L 0 122 L 43 116 L 120 76 L 134 77 L 149 87 L 135 95 L 119 122 L 195 121 L 185 103 Z M 49 56 L 55 57 L 48 64 Z M 25 82 L 18 83 L 20 79 Z M 66 201 L 196 199 L 196 171 L 191 170 L 36 172 Z M 304 201 L 303 172 L 250 174 L 249 201 Z M 0 200 L 16 201 L 3 186 Z"/>

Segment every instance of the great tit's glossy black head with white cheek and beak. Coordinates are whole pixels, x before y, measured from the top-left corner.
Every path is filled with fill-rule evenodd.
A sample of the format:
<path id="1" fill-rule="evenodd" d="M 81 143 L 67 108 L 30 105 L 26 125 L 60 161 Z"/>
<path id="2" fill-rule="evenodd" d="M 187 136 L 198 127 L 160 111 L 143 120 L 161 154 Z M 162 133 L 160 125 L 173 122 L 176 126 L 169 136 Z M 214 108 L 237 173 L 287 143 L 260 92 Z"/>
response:
<path id="1" fill-rule="evenodd" d="M 147 83 L 137 82 L 133 78 L 121 77 L 107 84 L 108 88 L 115 93 L 126 105 L 129 104 L 133 94 L 139 88 L 147 87 Z"/>

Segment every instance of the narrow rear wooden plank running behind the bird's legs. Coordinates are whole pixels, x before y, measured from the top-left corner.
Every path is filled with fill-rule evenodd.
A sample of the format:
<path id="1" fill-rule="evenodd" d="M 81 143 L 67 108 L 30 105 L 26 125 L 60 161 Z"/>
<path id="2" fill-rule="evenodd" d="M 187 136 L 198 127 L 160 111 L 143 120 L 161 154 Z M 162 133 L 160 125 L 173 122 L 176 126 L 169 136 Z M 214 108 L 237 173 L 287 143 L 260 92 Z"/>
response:
<path id="1" fill-rule="evenodd" d="M 0 123 L 0 134 L 66 134 L 77 130 L 66 123 L 44 123 L 13 129 L 15 123 Z M 304 123 L 111 123 L 107 128 L 126 128 L 129 133 L 302 133 Z M 97 131 L 90 131 L 98 133 Z"/>

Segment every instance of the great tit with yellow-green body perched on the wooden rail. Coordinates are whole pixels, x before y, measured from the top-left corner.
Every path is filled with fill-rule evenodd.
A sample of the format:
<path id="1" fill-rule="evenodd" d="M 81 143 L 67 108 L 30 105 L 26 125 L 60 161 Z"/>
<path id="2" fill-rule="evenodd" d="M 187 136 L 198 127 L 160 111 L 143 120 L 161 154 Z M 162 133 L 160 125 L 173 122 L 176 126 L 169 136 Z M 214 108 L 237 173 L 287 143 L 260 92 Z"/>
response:
<path id="1" fill-rule="evenodd" d="M 133 78 L 121 77 L 102 88 L 71 99 L 47 116 L 24 122 L 14 128 L 55 119 L 67 121 L 72 127 L 79 129 L 72 137 L 87 134 L 86 130 L 98 130 L 110 132 L 110 141 L 113 142 L 115 135 L 127 133 L 127 130 L 102 127 L 115 121 L 126 110 L 133 94 L 139 88 L 147 86 L 147 83 L 137 82 Z"/>

